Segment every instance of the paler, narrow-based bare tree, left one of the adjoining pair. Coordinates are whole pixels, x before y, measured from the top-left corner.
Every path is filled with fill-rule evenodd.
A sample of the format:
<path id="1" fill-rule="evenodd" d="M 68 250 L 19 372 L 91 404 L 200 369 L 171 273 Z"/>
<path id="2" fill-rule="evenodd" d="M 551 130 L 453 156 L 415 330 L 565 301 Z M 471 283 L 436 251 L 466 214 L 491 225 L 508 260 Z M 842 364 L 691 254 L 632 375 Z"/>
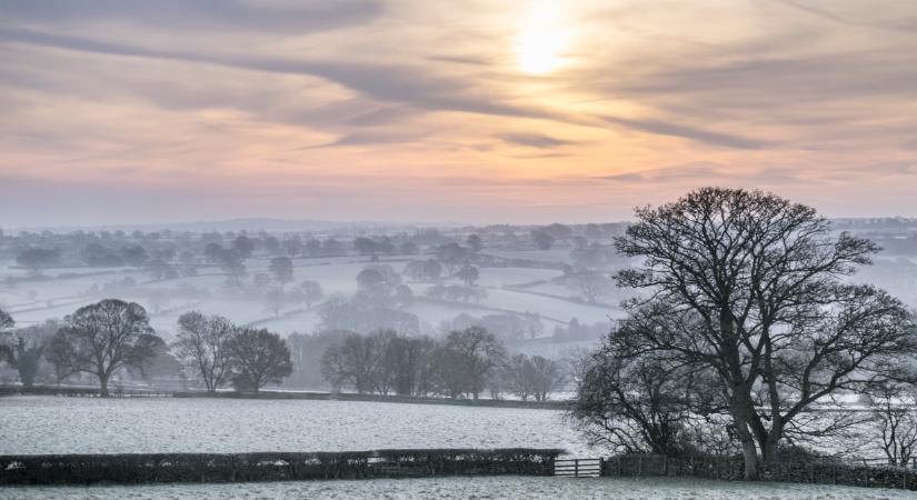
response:
<path id="1" fill-rule="evenodd" d="M 193 366 L 209 392 L 227 382 L 231 363 L 229 341 L 236 331 L 236 326 L 221 316 L 206 317 L 191 311 L 178 319 L 176 353 Z"/>

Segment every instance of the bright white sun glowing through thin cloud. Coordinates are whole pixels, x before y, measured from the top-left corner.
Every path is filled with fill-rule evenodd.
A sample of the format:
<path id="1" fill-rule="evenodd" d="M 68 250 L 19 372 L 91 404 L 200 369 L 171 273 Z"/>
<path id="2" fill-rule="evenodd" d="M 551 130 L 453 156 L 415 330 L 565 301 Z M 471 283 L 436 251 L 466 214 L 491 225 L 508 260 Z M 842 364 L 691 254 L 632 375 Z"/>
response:
<path id="1" fill-rule="evenodd" d="M 516 58 L 524 72 L 546 74 L 564 63 L 567 33 L 561 23 L 560 6 L 561 2 L 541 0 L 529 3 L 516 40 Z"/>

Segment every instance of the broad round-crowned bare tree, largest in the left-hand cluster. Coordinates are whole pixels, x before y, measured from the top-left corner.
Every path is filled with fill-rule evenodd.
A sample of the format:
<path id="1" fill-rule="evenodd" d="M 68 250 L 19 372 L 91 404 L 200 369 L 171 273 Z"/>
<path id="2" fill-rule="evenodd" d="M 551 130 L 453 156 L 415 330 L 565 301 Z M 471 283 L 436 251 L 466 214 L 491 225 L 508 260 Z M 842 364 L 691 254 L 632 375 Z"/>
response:
<path id="1" fill-rule="evenodd" d="M 91 373 L 99 379 L 101 396 L 108 397 L 108 382 L 121 368 L 141 367 L 156 354 L 161 342 L 153 334 L 147 311 L 136 302 L 106 299 L 77 309 L 54 334 L 62 360 L 70 371 Z"/>

